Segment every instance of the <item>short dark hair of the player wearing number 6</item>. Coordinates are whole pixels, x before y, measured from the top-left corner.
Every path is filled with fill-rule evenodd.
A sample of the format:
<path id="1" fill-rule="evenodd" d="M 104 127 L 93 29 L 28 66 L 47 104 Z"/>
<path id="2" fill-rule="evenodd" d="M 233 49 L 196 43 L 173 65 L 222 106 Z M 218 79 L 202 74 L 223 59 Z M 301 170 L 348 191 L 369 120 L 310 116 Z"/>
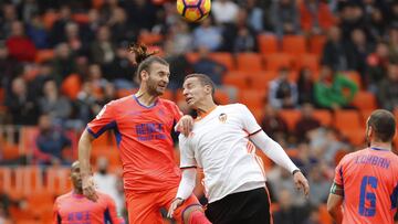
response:
<path id="1" fill-rule="evenodd" d="M 373 111 L 367 126 L 374 129 L 375 137 L 383 142 L 391 141 L 396 131 L 394 115 L 385 109 Z"/>

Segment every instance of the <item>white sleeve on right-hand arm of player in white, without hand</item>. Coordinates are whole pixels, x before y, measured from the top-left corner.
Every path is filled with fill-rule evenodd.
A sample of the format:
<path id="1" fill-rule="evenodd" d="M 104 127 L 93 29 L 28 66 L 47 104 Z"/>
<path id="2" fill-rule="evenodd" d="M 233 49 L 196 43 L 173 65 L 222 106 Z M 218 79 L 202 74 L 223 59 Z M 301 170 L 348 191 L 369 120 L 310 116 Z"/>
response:
<path id="1" fill-rule="evenodd" d="M 250 135 L 250 140 L 263 151 L 276 164 L 285 168 L 289 172 L 293 172 L 298 168 L 289 158 L 281 145 L 272 140 L 263 130 L 255 131 Z"/>

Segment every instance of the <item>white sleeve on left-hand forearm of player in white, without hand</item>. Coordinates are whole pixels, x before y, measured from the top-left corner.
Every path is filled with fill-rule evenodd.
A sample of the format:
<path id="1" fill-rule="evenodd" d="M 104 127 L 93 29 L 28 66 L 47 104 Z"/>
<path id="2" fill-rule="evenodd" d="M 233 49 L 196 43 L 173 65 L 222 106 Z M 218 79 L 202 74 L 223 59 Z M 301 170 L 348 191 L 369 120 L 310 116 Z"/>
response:
<path id="1" fill-rule="evenodd" d="M 178 186 L 176 198 L 186 200 L 192 194 L 192 191 L 196 185 L 196 175 L 197 175 L 196 168 L 182 169 L 182 177 L 180 184 Z"/>

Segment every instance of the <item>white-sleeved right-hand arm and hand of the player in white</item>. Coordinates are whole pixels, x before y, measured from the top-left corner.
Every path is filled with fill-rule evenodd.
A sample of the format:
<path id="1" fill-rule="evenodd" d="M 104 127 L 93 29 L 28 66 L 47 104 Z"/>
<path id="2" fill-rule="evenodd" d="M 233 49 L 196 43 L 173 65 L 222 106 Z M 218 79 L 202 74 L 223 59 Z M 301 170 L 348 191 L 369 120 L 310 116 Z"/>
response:
<path id="1" fill-rule="evenodd" d="M 263 130 L 250 136 L 250 140 L 260 148 L 272 161 L 285 168 L 289 172 L 293 173 L 293 180 L 296 188 L 303 190 L 304 195 L 308 196 L 310 185 L 306 178 L 300 169 L 289 158 L 281 145 L 272 140 Z"/>

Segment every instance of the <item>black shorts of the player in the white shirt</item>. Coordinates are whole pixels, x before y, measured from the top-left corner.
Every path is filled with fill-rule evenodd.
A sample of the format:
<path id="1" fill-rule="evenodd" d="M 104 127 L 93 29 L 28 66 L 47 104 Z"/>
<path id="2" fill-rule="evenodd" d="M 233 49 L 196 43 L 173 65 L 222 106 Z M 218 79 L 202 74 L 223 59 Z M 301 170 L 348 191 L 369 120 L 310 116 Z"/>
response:
<path id="1" fill-rule="evenodd" d="M 270 224 L 270 199 L 265 188 L 243 191 L 209 203 L 206 216 L 214 224 Z"/>

